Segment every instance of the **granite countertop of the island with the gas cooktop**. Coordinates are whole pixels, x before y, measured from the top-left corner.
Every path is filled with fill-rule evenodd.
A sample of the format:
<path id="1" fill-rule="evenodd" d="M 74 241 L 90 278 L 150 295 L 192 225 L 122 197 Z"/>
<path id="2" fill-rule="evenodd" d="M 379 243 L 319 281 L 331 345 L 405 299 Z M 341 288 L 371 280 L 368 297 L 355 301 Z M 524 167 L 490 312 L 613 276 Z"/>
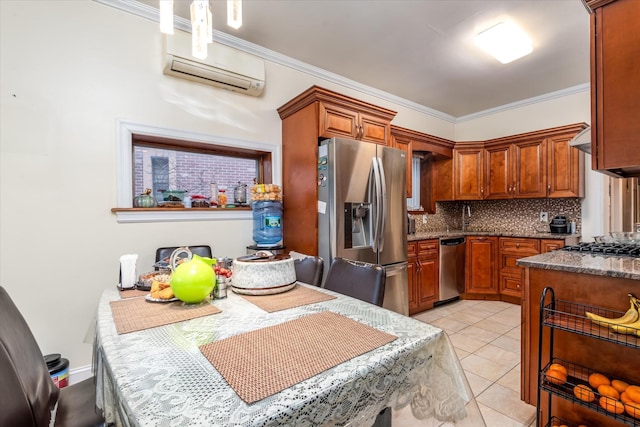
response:
<path id="1" fill-rule="evenodd" d="M 640 258 L 591 255 L 557 250 L 527 258 L 520 258 L 516 261 L 516 264 L 522 267 L 541 268 L 545 270 L 559 270 L 640 280 Z"/>

